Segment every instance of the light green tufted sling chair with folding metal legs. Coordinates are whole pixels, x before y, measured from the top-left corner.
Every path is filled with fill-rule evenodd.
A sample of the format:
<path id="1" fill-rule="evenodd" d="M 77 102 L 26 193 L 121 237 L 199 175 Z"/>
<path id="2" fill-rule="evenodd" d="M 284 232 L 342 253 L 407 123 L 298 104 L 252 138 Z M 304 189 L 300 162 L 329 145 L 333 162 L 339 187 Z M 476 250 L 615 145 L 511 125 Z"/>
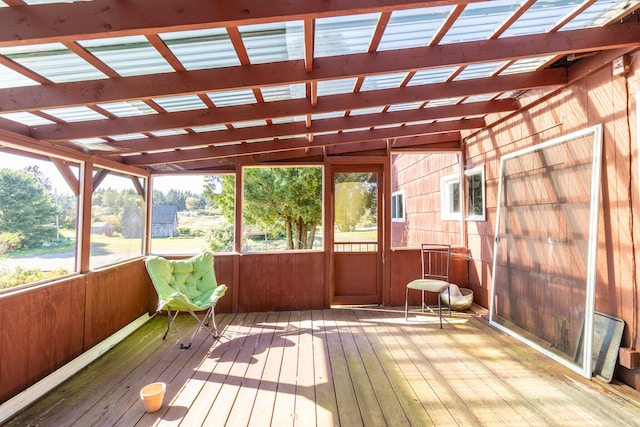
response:
<path id="1" fill-rule="evenodd" d="M 188 349 L 201 328 L 207 330 L 213 338 L 218 338 L 214 307 L 227 291 L 226 285 L 218 285 L 213 269 L 213 254 L 203 252 L 193 258 L 185 260 L 167 260 L 158 256 L 150 256 L 146 260 L 147 271 L 158 293 L 157 311 L 166 310 L 167 330 L 162 339 L 167 338 L 169 329 L 173 325 L 178 335 L 181 349 Z M 204 318 L 200 319 L 196 311 L 204 311 Z M 196 330 L 191 335 L 189 344 L 184 345 L 182 335 L 176 326 L 178 314 L 189 312 L 198 322 Z M 213 328 L 209 329 L 209 320 Z"/>

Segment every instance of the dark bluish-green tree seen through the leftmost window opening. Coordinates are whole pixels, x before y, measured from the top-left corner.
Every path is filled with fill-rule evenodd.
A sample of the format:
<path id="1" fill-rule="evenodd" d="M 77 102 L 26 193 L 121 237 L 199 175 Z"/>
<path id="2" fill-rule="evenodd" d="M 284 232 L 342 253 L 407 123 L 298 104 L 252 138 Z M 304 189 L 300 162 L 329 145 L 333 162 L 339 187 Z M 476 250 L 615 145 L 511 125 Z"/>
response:
<path id="1" fill-rule="evenodd" d="M 0 232 L 19 233 L 34 247 L 55 238 L 55 215 L 53 198 L 31 173 L 0 169 Z"/>

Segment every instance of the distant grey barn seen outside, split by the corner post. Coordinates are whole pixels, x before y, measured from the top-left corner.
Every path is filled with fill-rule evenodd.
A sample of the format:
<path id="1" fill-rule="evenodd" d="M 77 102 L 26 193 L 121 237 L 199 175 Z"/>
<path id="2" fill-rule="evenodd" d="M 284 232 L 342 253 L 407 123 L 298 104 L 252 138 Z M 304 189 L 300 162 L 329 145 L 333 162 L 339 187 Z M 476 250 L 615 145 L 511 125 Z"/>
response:
<path id="1" fill-rule="evenodd" d="M 122 215 L 122 235 L 126 238 L 142 237 L 142 210 L 130 206 Z M 178 233 L 178 208 L 153 206 L 151 211 L 151 237 L 172 237 Z"/>

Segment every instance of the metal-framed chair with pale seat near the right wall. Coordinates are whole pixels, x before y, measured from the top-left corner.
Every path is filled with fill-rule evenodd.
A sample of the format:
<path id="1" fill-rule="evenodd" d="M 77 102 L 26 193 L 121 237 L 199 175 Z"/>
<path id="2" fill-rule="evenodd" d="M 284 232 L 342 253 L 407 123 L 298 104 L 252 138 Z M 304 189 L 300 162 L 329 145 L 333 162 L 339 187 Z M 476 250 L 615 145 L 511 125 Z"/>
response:
<path id="1" fill-rule="evenodd" d="M 434 315 L 433 309 L 425 304 L 424 293 L 434 292 L 438 294 L 438 317 L 442 329 L 442 302 L 441 294 L 450 289 L 449 266 L 451 265 L 451 245 L 423 243 L 420 245 L 420 261 L 422 265 L 422 277 L 407 284 L 404 302 L 404 319 L 409 317 L 409 289 L 422 291 L 421 312 L 427 308 Z M 447 292 L 451 292 L 448 290 Z M 449 317 L 451 317 L 451 300 L 449 300 Z"/>

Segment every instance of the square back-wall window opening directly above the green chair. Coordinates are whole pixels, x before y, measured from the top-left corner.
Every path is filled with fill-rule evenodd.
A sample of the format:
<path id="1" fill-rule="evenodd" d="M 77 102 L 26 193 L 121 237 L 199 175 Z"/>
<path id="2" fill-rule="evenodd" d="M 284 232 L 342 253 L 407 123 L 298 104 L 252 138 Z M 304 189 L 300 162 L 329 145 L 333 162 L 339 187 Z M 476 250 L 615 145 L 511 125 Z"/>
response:
<path id="1" fill-rule="evenodd" d="M 156 176 L 152 204 L 152 253 L 233 251 L 234 175 Z"/>

